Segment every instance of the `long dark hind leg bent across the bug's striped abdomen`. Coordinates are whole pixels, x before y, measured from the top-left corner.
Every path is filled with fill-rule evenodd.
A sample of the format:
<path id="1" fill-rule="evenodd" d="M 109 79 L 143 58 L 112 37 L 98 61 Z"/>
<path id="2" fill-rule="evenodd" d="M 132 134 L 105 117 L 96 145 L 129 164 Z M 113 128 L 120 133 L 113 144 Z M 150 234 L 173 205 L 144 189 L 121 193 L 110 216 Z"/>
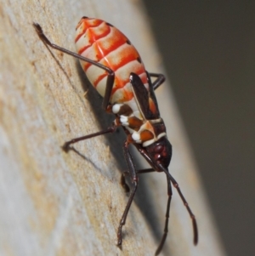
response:
<path id="1" fill-rule="evenodd" d="M 71 52 L 70 50 L 68 50 L 66 48 L 62 48 L 62 47 L 60 47 L 60 46 L 58 46 L 58 45 L 56 45 L 54 43 L 51 43 L 48 40 L 48 37 L 46 37 L 45 34 L 43 33 L 42 27 L 38 23 L 33 23 L 33 26 L 34 26 L 35 30 L 37 31 L 38 37 L 40 37 L 40 39 L 42 40 L 42 42 L 44 44 L 50 46 L 51 48 L 59 50 L 62 53 L 71 55 L 72 57 L 75 57 L 78 60 L 83 60 L 83 61 L 86 61 L 86 62 L 92 64 L 92 65 L 96 65 L 96 66 L 98 66 L 99 68 L 105 70 L 108 73 L 107 81 L 106 81 L 106 88 L 105 88 L 105 97 L 104 97 L 104 100 L 103 100 L 103 109 L 106 111 L 107 105 L 109 104 L 109 100 L 110 100 L 110 97 L 111 97 L 111 90 L 112 90 L 112 87 L 113 87 L 113 84 L 114 84 L 114 79 L 115 79 L 114 71 L 112 71 L 111 68 L 109 68 L 109 67 L 107 67 L 105 65 L 102 65 L 102 64 L 100 64 L 100 63 L 98 63 L 98 62 L 96 62 L 94 60 L 90 60 L 90 59 L 88 59 L 86 57 L 83 57 L 80 54 Z"/>

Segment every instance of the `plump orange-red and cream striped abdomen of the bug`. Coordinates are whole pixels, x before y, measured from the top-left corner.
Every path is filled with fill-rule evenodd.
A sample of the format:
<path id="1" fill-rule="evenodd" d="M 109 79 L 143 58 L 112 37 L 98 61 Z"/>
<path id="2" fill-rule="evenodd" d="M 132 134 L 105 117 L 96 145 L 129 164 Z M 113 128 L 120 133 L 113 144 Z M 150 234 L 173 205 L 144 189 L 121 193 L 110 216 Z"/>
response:
<path id="1" fill-rule="evenodd" d="M 111 92 L 111 104 L 130 102 L 135 107 L 133 91 L 129 82 L 131 72 L 139 75 L 147 88 L 147 76 L 138 51 L 121 31 L 104 20 L 82 18 L 77 25 L 77 53 L 111 68 L 115 82 Z M 81 61 L 89 81 L 99 94 L 105 95 L 107 71 Z M 130 101 L 131 100 L 131 101 Z M 135 110 L 133 110 L 135 111 Z"/>

